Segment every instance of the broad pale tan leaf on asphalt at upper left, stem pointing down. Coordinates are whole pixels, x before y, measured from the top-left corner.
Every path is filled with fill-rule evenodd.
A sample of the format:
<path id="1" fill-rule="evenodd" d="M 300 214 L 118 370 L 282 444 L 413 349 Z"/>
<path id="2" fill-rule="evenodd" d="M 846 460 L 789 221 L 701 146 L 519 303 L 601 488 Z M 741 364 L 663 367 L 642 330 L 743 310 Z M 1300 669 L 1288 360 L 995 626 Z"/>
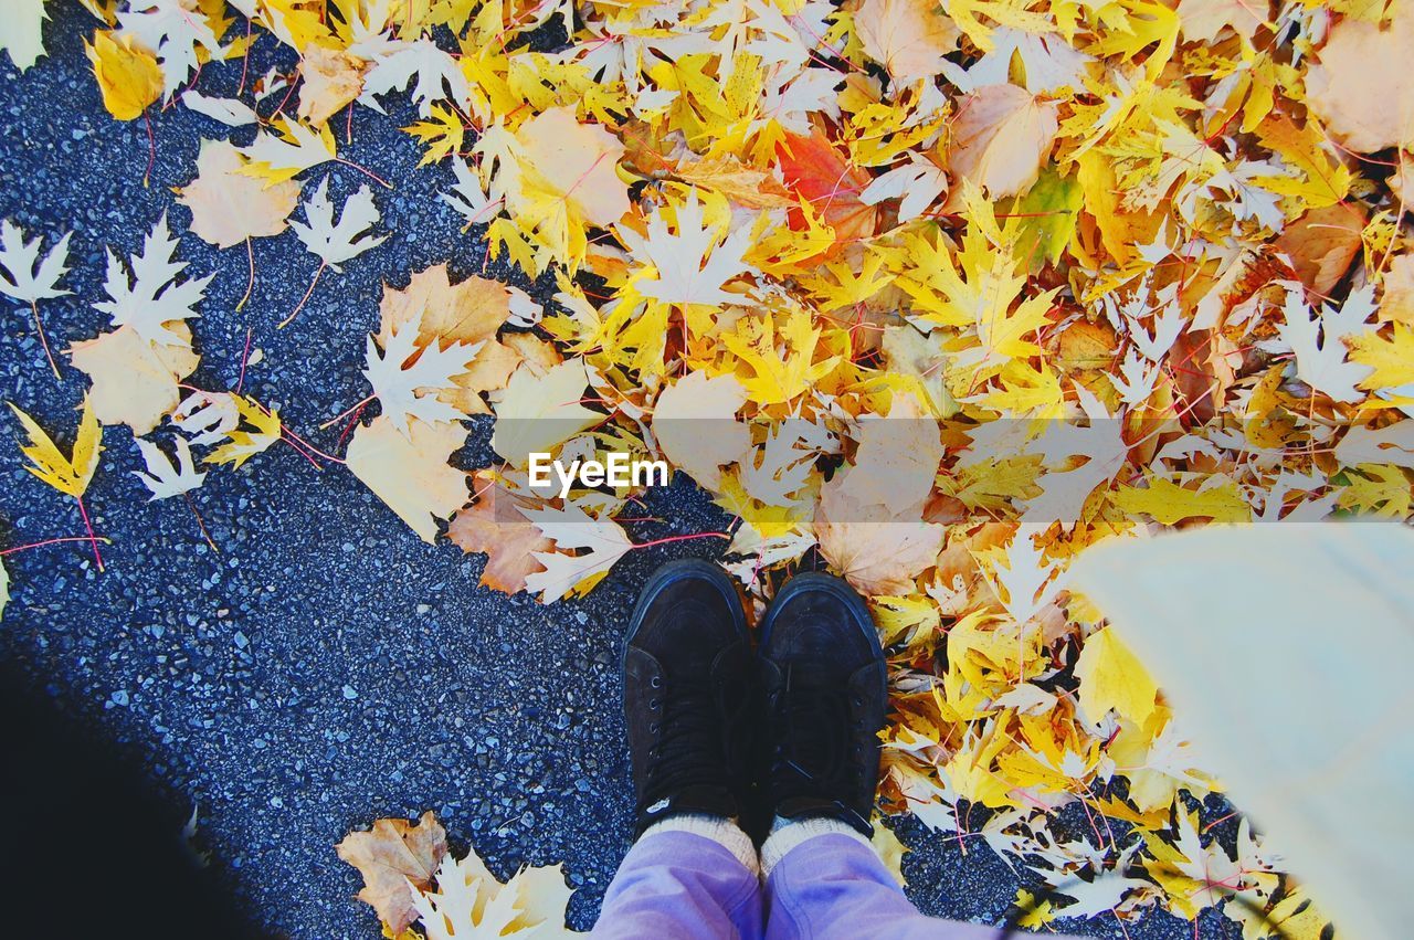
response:
<path id="1" fill-rule="evenodd" d="M 280 235 L 300 201 L 298 182 L 291 180 L 264 187 L 240 172 L 245 165 L 245 157 L 232 144 L 202 140 L 197 178 L 177 198 L 191 209 L 192 233 L 216 247 Z"/>

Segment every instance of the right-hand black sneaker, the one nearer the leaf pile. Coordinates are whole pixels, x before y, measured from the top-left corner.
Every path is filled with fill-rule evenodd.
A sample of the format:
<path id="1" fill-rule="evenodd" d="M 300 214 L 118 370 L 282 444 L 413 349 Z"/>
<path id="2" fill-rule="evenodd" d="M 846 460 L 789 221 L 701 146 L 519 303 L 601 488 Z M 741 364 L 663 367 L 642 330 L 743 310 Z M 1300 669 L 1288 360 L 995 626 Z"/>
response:
<path id="1" fill-rule="evenodd" d="M 827 817 L 872 835 L 888 681 L 864 599 L 827 574 L 796 575 L 771 602 L 756 654 L 775 814 Z"/>

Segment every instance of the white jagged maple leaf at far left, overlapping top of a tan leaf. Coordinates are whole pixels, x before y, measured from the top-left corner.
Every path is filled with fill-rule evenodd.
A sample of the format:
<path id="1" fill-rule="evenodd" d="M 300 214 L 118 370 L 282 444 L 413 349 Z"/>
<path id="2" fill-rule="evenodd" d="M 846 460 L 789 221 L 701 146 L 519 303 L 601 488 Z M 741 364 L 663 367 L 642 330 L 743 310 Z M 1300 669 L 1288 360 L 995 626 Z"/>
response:
<path id="1" fill-rule="evenodd" d="M 197 304 L 206 295 L 206 284 L 215 274 L 177 281 L 187 262 L 174 262 L 177 239 L 167 228 L 164 212 L 151 233 L 143 240 L 141 254 L 132 256 L 132 271 L 107 252 L 107 278 L 103 290 L 109 300 L 93 304 L 113 319 L 115 327 L 132 327 L 139 336 L 157 346 L 191 345 L 167 324 L 201 317 Z"/>

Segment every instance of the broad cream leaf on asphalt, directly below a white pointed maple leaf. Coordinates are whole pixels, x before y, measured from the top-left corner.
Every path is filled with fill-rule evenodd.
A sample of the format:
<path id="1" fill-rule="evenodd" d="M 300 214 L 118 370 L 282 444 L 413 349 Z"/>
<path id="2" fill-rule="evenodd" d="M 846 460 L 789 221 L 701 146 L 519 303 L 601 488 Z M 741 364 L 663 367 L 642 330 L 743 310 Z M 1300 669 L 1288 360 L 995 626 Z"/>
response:
<path id="1" fill-rule="evenodd" d="M 380 414 L 354 430 L 345 461 L 375 496 L 431 544 L 437 520 L 467 502 L 467 474 L 447 464 L 465 442 L 467 431 L 460 424 L 411 418 L 404 433 Z"/>

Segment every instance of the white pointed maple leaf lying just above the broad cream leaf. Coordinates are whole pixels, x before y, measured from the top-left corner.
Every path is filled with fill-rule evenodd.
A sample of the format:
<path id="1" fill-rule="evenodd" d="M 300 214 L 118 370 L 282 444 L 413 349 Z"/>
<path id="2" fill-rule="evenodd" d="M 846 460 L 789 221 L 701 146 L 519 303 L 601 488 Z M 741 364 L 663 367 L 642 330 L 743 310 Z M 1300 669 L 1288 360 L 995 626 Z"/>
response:
<path id="1" fill-rule="evenodd" d="M 431 342 L 417 349 L 423 314 L 417 312 L 402 328 L 389 331 L 379 355 L 378 342 L 368 338 L 363 377 L 373 386 L 373 394 L 383 406 L 383 414 L 403 434 L 407 421 L 421 418 L 428 424 L 457 421 L 469 417 L 437 397 L 437 392 L 451 389 L 452 376 L 465 372 L 481 351 L 481 342 L 450 343 L 445 349 Z"/>

